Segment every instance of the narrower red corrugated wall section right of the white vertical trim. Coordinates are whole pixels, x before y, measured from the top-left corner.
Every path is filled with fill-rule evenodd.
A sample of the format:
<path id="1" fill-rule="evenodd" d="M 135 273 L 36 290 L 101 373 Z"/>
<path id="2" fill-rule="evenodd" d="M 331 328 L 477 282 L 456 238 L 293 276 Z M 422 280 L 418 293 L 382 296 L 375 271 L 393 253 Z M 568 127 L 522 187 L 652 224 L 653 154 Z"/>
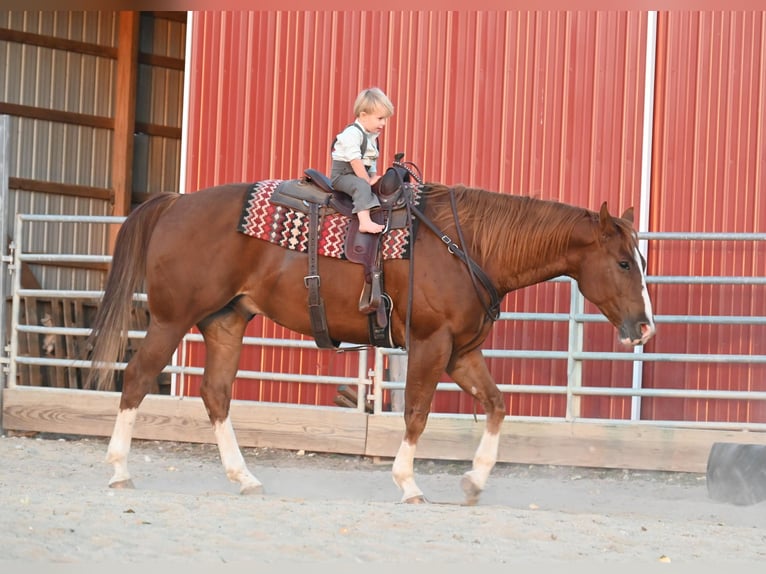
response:
<path id="1" fill-rule="evenodd" d="M 766 14 L 671 12 L 658 21 L 651 229 L 766 230 Z M 754 242 L 662 242 L 652 274 L 766 276 Z M 658 314 L 766 315 L 766 288 L 658 286 Z M 657 352 L 766 353 L 766 328 L 663 325 Z M 645 386 L 766 390 L 764 365 L 650 364 Z M 766 421 L 752 401 L 651 399 L 650 419 Z"/>

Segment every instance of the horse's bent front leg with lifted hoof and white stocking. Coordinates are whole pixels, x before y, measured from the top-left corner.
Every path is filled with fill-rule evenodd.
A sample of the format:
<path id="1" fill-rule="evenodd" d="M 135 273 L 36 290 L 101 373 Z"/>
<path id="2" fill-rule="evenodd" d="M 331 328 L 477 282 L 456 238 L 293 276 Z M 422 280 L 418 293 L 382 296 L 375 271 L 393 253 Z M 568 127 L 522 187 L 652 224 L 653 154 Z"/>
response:
<path id="1" fill-rule="evenodd" d="M 505 402 L 489 374 L 480 349 L 458 357 L 448 372 L 461 389 L 481 403 L 487 414 L 487 425 L 473 457 L 473 468 L 466 472 L 461 480 L 465 502 L 473 505 L 479 501 L 489 474 L 497 462 L 500 428 L 505 418 Z"/>

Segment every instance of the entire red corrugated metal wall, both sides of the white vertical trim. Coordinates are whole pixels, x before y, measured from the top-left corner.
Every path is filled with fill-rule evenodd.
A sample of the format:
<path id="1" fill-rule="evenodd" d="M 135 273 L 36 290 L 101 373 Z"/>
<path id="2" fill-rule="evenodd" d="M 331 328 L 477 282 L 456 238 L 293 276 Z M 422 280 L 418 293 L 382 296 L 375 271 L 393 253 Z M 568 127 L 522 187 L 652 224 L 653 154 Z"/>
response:
<path id="1" fill-rule="evenodd" d="M 655 120 L 649 222 L 653 230 L 702 229 L 687 226 L 691 222 L 679 213 L 679 201 L 690 202 L 689 214 L 706 209 L 714 219 L 724 197 L 741 199 L 735 210 L 739 215 L 717 221 L 727 231 L 753 230 L 759 206 L 763 215 L 763 204 L 758 203 L 762 199 L 755 195 L 759 185 L 763 189 L 766 173 L 763 15 L 725 19 L 661 15 L 657 95 L 662 103 L 657 104 Z M 378 85 L 396 106 L 381 138 L 384 159 L 404 151 L 429 181 L 529 194 L 591 209 L 608 201 L 612 212 L 621 213 L 639 204 L 646 29 L 647 16 L 639 12 L 195 13 L 187 190 L 298 177 L 306 167 L 329 169 L 330 141 L 352 119 L 354 97 L 361 88 Z M 727 47 L 724 52 L 719 50 L 722 44 Z M 746 62 L 735 64 L 738 56 Z M 713 88 L 703 85 L 710 77 L 700 69 L 708 60 L 712 64 L 706 73 L 715 80 Z M 749 85 L 745 94 L 732 87 L 742 82 Z M 739 105 L 736 112 L 728 108 L 732 98 Z M 698 104 L 687 107 L 690 99 Z M 760 127 L 748 119 L 758 110 Z M 722 118 L 730 116 L 734 123 L 722 127 Z M 692 133 L 703 125 L 707 131 Z M 742 128 L 747 135 L 740 133 Z M 718 150 L 719 145 L 729 147 Z M 741 154 L 750 157 L 754 149 L 755 156 L 747 160 L 748 178 L 736 175 L 738 169 L 725 168 L 732 158 L 739 162 Z M 719 167 L 700 167 L 699 162 Z M 718 177 L 715 185 L 712 174 Z M 675 180 L 680 177 L 692 178 L 694 185 Z M 743 219 L 747 214 L 749 219 Z M 652 247 L 652 273 L 686 274 L 689 257 L 684 248 L 673 246 L 666 254 L 666 248 Z M 708 255 L 700 257 L 703 265 L 717 265 Z M 762 260 L 753 258 L 750 265 L 763 271 Z M 657 289 L 658 313 L 676 313 L 678 299 L 688 302 L 689 289 L 681 291 Z M 565 311 L 568 297 L 567 287 L 546 284 L 510 295 L 504 309 Z M 650 343 L 657 346 L 647 350 L 672 346 L 693 328 L 676 333 L 663 327 L 668 331 L 671 335 L 658 337 Z M 262 336 L 284 333 L 262 320 L 254 321 L 248 331 Z M 588 325 L 586 333 L 587 350 L 617 349 L 610 326 Z M 520 323 L 497 325 L 487 347 L 565 349 L 566 344 L 566 325 Z M 352 355 L 331 351 L 248 350 L 242 367 L 349 376 L 357 372 Z M 490 367 L 496 379 L 506 383 L 566 381 L 564 361 L 492 359 Z M 647 366 L 647 384 L 664 384 L 666 368 Z M 684 376 L 695 377 L 696 368 L 689 369 L 694 372 Z M 631 367 L 593 362 L 586 365 L 584 380 L 597 386 L 629 386 Z M 331 404 L 334 389 L 319 387 L 238 382 L 235 396 Z M 561 398 L 510 395 L 508 404 L 512 414 L 564 414 Z M 585 416 L 624 418 L 630 401 L 593 397 L 583 405 Z M 434 406 L 439 411 L 474 410 L 467 396 L 456 393 L 443 393 Z M 657 408 L 645 401 L 644 414 L 667 416 Z"/>

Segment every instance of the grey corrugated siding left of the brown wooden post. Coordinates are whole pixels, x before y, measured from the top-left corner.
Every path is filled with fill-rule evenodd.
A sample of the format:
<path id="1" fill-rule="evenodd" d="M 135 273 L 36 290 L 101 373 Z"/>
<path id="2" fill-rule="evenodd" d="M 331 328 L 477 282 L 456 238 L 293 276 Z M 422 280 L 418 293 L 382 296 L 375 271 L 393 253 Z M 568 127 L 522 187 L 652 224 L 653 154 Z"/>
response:
<path id="1" fill-rule="evenodd" d="M 0 26 L 97 44 L 116 45 L 114 12 L 2 12 Z M 44 109 L 97 116 L 113 115 L 114 62 L 87 54 L 0 41 L 0 99 Z M 9 173 L 14 177 L 106 188 L 110 185 L 111 132 L 71 124 L 11 118 Z M 102 200 L 10 190 L 7 229 L 16 213 L 108 215 Z M 78 230 L 76 225 L 35 223 L 27 229 L 26 247 L 60 253 L 107 252 L 106 230 Z M 32 266 L 43 287 L 98 289 L 103 273 L 53 266 Z"/>

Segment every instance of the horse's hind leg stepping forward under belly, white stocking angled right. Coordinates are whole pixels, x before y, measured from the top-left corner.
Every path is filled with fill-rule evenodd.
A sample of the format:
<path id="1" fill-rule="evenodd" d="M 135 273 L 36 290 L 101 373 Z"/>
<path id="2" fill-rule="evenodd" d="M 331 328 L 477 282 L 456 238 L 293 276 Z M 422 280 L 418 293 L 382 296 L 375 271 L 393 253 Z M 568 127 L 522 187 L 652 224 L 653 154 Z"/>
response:
<path id="1" fill-rule="evenodd" d="M 249 315 L 243 313 L 243 310 L 226 307 L 198 325 L 207 350 L 200 395 L 213 425 L 226 476 L 232 482 L 239 483 L 240 493 L 260 494 L 263 486 L 245 464 L 229 412 L 242 337 L 249 320 Z"/>

